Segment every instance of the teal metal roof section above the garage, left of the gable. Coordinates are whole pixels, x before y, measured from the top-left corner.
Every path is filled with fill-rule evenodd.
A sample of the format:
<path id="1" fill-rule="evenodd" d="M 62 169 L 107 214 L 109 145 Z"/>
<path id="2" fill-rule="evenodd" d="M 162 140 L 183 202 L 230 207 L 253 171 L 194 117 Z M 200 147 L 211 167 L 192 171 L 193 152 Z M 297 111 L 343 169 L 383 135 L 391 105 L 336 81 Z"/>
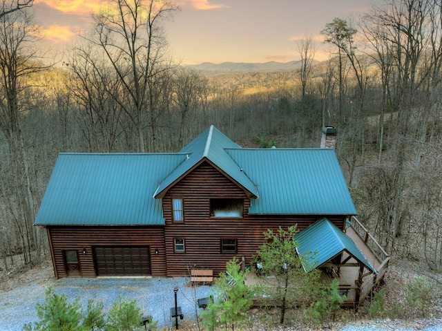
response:
<path id="1" fill-rule="evenodd" d="M 153 192 L 183 154 L 59 155 L 36 225 L 164 225 Z"/>

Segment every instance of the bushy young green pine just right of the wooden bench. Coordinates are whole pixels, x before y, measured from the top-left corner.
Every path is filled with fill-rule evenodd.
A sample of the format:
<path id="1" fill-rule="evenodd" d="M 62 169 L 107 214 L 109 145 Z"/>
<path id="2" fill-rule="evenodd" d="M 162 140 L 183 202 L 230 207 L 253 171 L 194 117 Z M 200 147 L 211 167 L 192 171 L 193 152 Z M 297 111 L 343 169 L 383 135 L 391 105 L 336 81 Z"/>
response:
<path id="1" fill-rule="evenodd" d="M 215 280 L 215 299 L 202 314 L 202 323 L 209 330 L 221 324 L 231 325 L 234 330 L 235 323 L 245 319 L 251 306 L 249 288 L 244 283 L 247 272 L 240 270 L 238 258 L 229 261 L 226 270 Z"/>

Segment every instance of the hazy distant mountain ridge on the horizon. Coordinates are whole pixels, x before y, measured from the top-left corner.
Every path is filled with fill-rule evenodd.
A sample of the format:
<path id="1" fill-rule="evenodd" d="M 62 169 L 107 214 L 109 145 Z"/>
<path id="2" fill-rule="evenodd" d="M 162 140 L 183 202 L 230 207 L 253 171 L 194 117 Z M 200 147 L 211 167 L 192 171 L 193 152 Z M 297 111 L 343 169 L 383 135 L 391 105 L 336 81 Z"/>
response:
<path id="1" fill-rule="evenodd" d="M 265 62 L 265 63 L 234 63 L 224 62 L 222 64 L 213 64 L 211 62 L 204 62 L 202 64 L 193 64 L 187 67 L 204 73 L 262 73 L 272 71 L 286 71 L 296 70 L 300 68 L 300 61 L 291 62 Z"/>

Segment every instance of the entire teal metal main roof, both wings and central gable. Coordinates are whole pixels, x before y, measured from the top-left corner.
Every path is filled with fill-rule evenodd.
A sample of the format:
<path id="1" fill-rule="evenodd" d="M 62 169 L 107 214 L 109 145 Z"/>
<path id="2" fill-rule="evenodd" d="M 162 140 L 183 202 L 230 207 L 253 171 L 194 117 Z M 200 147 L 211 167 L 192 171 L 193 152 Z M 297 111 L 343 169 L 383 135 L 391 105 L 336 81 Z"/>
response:
<path id="1" fill-rule="evenodd" d="M 61 153 L 35 224 L 164 224 L 160 198 L 204 160 L 248 193 L 249 214 L 356 215 L 333 150 L 242 149 L 210 126 L 179 153 Z"/>

